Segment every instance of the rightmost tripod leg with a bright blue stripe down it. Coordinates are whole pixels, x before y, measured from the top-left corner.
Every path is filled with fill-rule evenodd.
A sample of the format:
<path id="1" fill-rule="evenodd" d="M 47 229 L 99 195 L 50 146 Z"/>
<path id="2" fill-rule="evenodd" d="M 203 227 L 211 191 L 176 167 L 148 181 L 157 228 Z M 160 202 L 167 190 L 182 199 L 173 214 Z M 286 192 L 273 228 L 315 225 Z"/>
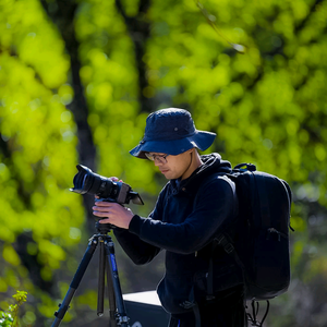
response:
<path id="1" fill-rule="evenodd" d="M 114 246 L 110 238 L 108 238 L 105 241 L 105 246 L 106 246 L 106 254 L 107 254 L 110 272 L 111 272 L 112 288 L 116 295 L 116 304 L 118 308 L 117 325 L 129 327 L 129 317 L 126 316 L 125 304 L 122 299 L 122 292 L 121 292 L 119 276 L 118 276 L 116 257 L 114 257 Z"/>

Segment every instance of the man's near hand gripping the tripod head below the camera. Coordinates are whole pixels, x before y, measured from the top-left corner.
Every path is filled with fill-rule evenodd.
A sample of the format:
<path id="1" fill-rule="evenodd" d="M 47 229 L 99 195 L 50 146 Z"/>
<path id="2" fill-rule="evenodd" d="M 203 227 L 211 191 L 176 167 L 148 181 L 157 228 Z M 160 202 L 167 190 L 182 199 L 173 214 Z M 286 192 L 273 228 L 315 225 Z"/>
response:
<path id="1" fill-rule="evenodd" d="M 134 216 L 131 209 L 112 202 L 96 202 L 93 207 L 93 214 L 101 217 L 100 223 L 111 223 L 113 226 L 129 229 L 130 222 Z"/>

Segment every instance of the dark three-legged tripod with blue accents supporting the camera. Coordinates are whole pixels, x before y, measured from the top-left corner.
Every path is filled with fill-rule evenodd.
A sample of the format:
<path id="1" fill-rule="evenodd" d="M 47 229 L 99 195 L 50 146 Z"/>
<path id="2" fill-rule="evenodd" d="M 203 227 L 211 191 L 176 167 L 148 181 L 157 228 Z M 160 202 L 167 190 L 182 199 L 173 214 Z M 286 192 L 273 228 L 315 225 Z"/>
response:
<path id="1" fill-rule="evenodd" d="M 63 319 L 69 308 L 69 304 L 73 299 L 75 291 L 78 288 L 78 284 L 84 276 L 84 272 L 86 271 L 86 268 L 93 257 L 97 245 L 100 246 L 97 315 L 101 316 L 104 314 L 105 274 L 107 270 L 107 283 L 110 306 L 109 327 L 129 327 L 129 317 L 126 316 L 126 311 L 122 299 L 121 287 L 116 264 L 114 245 L 112 239 L 110 238 L 110 235 L 108 235 L 111 228 L 112 226 L 110 223 L 99 223 L 98 221 L 96 222 L 96 229 L 98 233 L 94 234 L 89 239 L 88 246 L 70 284 L 70 288 L 62 303 L 59 304 L 59 310 L 55 313 L 56 319 L 52 323 L 51 327 L 59 326 L 61 320 Z"/>

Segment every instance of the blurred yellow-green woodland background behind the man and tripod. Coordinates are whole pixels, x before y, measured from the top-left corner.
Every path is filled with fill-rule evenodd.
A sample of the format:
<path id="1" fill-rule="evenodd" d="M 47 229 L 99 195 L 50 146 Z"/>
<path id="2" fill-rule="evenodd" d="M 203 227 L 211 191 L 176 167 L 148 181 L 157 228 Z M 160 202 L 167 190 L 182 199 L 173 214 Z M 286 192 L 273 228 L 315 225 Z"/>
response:
<path id="1" fill-rule="evenodd" d="M 179 107 L 217 133 L 206 153 L 292 187 L 292 282 L 265 326 L 327 326 L 326 32 L 326 0 L 0 0 L 0 310 L 26 291 L 21 326 L 51 325 L 95 232 L 77 164 L 150 213 L 166 180 L 129 150 Z M 116 250 L 123 293 L 154 290 L 162 255 Z M 95 255 L 62 326 L 93 326 L 97 274 Z"/>

